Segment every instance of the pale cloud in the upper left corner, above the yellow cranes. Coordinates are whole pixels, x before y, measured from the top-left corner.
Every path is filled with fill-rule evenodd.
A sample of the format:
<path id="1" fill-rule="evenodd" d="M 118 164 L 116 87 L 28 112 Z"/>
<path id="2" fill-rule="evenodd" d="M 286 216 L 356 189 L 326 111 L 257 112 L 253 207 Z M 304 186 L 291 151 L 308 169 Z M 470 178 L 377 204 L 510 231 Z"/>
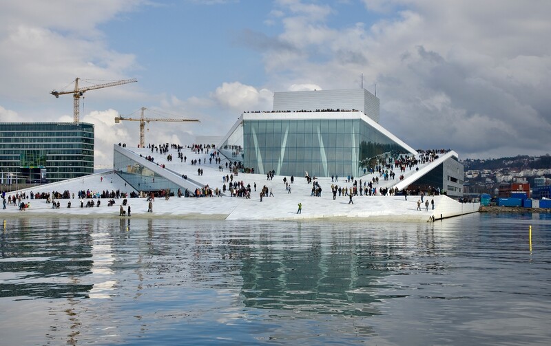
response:
<path id="1" fill-rule="evenodd" d="M 6 1 L 0 12 L 0 102 L 41 102 L 76 76 L 125 79 L 134 54 L 107 47 L 100 23 L 142 1 Z M 114 91 L 115 93 L 117 91 Z"/>

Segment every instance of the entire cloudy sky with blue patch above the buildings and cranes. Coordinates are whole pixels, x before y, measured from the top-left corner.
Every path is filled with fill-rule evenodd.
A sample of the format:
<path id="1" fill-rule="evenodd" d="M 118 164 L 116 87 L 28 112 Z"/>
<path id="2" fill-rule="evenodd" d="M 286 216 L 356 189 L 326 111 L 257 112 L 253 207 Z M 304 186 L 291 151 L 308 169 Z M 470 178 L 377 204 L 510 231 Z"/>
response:
<path id="1" fill-rule="evenodd" d="M 414 148 L 461 159 L 549 153 L 548 0 L 5 0 L 0 3 L 0 122 L 81 121 L 96 166 L 112 144 L 191 144 L 223 135 L 274 91 L 377 88 L 381 124 Z"/>

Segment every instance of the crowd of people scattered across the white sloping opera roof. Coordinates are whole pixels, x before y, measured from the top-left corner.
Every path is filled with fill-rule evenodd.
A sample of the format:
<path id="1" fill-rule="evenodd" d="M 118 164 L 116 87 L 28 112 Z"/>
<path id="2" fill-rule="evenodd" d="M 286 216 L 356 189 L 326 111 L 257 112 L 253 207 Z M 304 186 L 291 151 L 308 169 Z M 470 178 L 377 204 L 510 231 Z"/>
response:
<path id="1" fill-rule="evenodd" d="M 320 111 L 331 111 L 331 110 L 320 110 Z M 121 145 L 121 144 L 119 144 Z M 149 144 L 147 146 L 148 149 L 151 150 L 152 153 L 156 152 L 159 155 L 163 155 L 163 158 L 167 160 L 167 162 L 171 162 L 173 159 L 173 153 L 170 153 L 170 150 L 176 150 L 176 153 L 178 155 L 178 158 L 180 158 L 180 162 L 186 162 L 187 161 L 187 155 L 184 154 L 184 150 L 189 150 L 191 153 L 194 153 L 195 155 L 208 155 L 204 158 L 193 158 L 189 160 L 189 164 L 191 165 L 207 165 L 207 162 L 209 165 L 212 164 L 218 164 L 218 171 L 224 171 L 227 170 L 228 173 L 222 175 L 222 186 L 220 187 L 211 187 L 209 184 L 206 184 L 205 186 L 198 186 L 196 188 L 185 188 L 185 191 L 182 191 L 181 188 L 178 188 L 178 192 L 176 195 L 178 197 L 222 197 L 222 195 L 228 195 L 229 197 L 242 197 L 246 199 L 250 199 L 252 192 L 257 191 L 257 184 L 256 182 L 245 182 L 244 180 L 237 180 L 237 177 L 239 173 L 246 172 L 246 173 L 254 173 L 254 170 L 248 167 L 243 166 L 242 162 L 240 161 L 231 161 L 224 159 L 225 162 L 222 162 L 222 158 L 220 158 L 220 151 L 216 149 L 216 146 L 214 144 L 192 144 L 188 147 L 183 147 L 179 144 Z M 234 149 L 234 148 L 232 148 Z M 413 155 L 394 155 L 385 159 L 382 159 L 379 161 L 379 163 L 373 167 L 370 167 L 369 169 L 364 169 L 364 173 L 369 173 L 373 176 L 371 177 L 363 177 L 359 180 L 355 178 L 353 175 L 347 175 L 346 177 L 342 178 L 342 181 L 339 182 L 338 175 L 331 175 L 331 185 L 330 185 L 330 191 L 333 195 L 333 199 L 337 199 L 337 197 L 352 197 L 352 196 L 386 196 L 386 195 L 395 195 L 399 193 L 396 188 L 388 188 L 386 186 L 379 186 L 380 179 L 383 181 L 388 180 L 395 180 L 395 170 L 398 170 L 401 173 L 406 172 L 406 169 L 413 169 L 414 167 L 417 168 L 419 164 L 424 164 L 427 162 L 432 162 L 433 160 L 436 160 L 438 158 L 438 155 L 442 153 L 446 153 L 447 150 L 439 149 L 439 150 L 427 150 L 427 151 L 419 151 L 418 157 L 415 157 Z M 143 156 L 142 156 L 143 157 Z M 149 162 L 156 162 L 155 158 L 152 155 L 147 155 L 144 157 L 145 160 L 148 160 Z M 160 162 L 160 161 L 159 161 Z M 159 164 L 161 167 L 165 167 L 164 164 Z M 198 168 L 198 175 L 203 175 L 203 168 Z M 267 180 L 272 181 L 273 177 L 275 176 L 275 170 L 268 171 L 266 174 Z M 187 175 L 183 174 L 182 177 L 187 180 Z M 322 184 L 320 183 L 320 180 L 316 179 L 316 177 L 311 177 L 308 173 L 305 175 L 306 178 L 306 184 L 311 184 L 311 193 L 310 195 L 313 197 L 321 197 L 322 196 Z M 367 179 L 366 179 L 367 178 Z M 402 180 L 404 178 L 404 175 L 400 175 L 399 179 Z M 293 175 L 290 176 L 289 180 L 287 180 L 287 177 L 283 177 L 283 184 L 285 187 L 285 191 L 287 193 L 291 193 L 291 185 L 294 183 L 295 177 Z M 112 180 L 111 180 L 112 181 Z M 101 182 L 103 182 L 103 176 L 101 177 Z M 152 177 L 152 183 L 154 183 L 154 177 Z M 340 184 L 342 183 L 342 185 Z M 126 186 L 126 184 L 125 184 Z M 139 183 L 138 183 L 138 189 L 139 189 Z M 329 187 L 329 186 L 328 186 Z M 430 195 L 439 195 L 440 189 L 439 188 L 419 188 L 417 191 L 403 191 L 404 195 L 412 195 L 412 194 L 430 194 Z M 116 204 L 115 199 L 124 198 L 125 199 L 125 206 L 127 205 L 127 199 L 126 198 L 137 198 L 137 197 L 147 197 L 147 202 L 154 202 L 155 197 L 164 197 L 165 199 L 169 199 L 170 196 L 174 195 L 171 191 L 167 189 L 153 189 L 152 191 L 139 191 L 136 193 L 136 191 L 132 191 L 131 193 L 124 193 L 121 192 L 119 189 L 116 191 L 114 189 L 108 190 L 104 189 L 103 191 L 94 191 L 92 189 L 86 189 L 86 190 L 80 190 L 77 192 L 77 197 L 80 199 L 81 207 L 99 207 L 101 206 L 101 199 L 110 199 L 107 202 L 107 206 L 113 206 Z M 59 200 L 58 199 L 74 199 L 75 194 L 70 193 L 70 191 L 52 191 L 52 193 L 33 193 L 30 191 L 29 195 L 27 193 L 17 193 L 17 195 L 8 195 L 6 198 L 6 193 L 4 192 L 2 194 L 4 199 L 4 208 L 6 208 L 6 204 L 14 205 L 14 206 L 20 206 L 22 200 L 28 199 L 46 199 L 46 202 L 52 203 L 52 208 L 59 208 Z M 262 201 L 263 197 L 271 197 L 273 196 L 273 191 L 271 187 L 268 187 L 267 185 L 262 186 L 260 190 L 258 191 L 258 196 L 260 197 L 260 200 Z M 406 197 L 407 198 L 407 197 Z M 85 199 L 87 199 L 86 202 Z M 94 201 L 96 199 L 96 201 Z M 352 201 L 352 200 L 351 200 Z M 352 203 L 352 202 L 351 202 Z M 21 207 L 25 208 L 25 206 Z M 67 208 L 70 208 L 70 204 L 67 204 Z M 129 212 L 127 212 L 129 214 Z"/>

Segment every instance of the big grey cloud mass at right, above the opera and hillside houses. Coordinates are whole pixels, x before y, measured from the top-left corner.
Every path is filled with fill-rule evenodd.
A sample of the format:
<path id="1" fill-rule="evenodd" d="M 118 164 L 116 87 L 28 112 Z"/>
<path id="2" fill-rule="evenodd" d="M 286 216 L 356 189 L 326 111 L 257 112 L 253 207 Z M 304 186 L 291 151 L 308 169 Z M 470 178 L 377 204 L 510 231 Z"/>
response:
<path id="1" fill-rule="evenodd" d="M 295 50 L 265 52 L 275 84 L 347 88 L 363 74 L 382 125 L 413 147 L 548 151 L 551 2 L 364 2 L 385 19 L 335 28 L 331 10 L 308 17 L 302 1 L 280 1 L 290 14 L 279 39 Z"/>

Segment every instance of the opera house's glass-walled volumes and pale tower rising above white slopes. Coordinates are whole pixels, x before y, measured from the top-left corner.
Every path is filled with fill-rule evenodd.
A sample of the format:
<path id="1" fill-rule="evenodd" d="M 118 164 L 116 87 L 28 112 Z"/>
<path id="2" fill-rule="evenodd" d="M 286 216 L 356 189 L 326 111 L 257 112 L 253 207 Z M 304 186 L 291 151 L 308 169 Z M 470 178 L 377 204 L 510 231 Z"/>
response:
<path id="1" fill-rule="evenodd" d="M 417 155 L 379 124 L 379 99 L 366 89 L 276 92 L 272 111 L 242 113 L 218 140 L 198 144 L 216 144 L 225 158 L 238 162 L 246 173 L 287 177 L 360 178 L 378 166 Z M 399 169 L 394 169 L 396 179 L 391 187 L 410 191 L 438 188 L 450 197 L 462 197 L 464 169 L 457 153 L 439 153 L 419 167 L 403 179 L 398 179 Z M 178 174 L 167 174 L 153 162 L 117 146 L 114 169 L 138 191 L 143 184 L 149 189 L 190 191 L 200 186 L 191 177 L 183 180 Z"/>

